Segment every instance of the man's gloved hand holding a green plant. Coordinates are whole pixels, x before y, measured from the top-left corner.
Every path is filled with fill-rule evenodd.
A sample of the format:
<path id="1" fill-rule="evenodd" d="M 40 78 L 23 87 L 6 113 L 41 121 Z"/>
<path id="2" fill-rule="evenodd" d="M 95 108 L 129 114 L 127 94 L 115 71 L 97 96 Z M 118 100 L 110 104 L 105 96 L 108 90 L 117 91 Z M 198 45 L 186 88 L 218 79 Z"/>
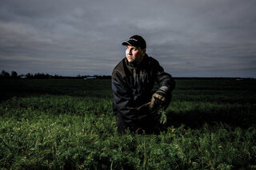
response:
<path id="1" fill-rule="evenodd" d="M 150 109 L 159 109 L 164 106 L 166 101 L 166 92 L 161 88 L 158 89 L 152 96 L 150 102 Z"/>

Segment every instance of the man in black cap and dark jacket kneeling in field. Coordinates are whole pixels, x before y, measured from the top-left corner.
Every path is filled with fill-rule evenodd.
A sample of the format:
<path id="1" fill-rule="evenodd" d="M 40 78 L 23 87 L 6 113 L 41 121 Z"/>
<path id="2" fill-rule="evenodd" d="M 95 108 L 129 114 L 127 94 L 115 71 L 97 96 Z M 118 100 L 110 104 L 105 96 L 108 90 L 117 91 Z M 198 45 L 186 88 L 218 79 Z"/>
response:
<path id="1" fill-rule="evenodd" d="M 129 128 L 131 132 L 157 133 L 161 117 L 158 110 L 170 104 L 174 80 L 157 60 L 146 54 L 146 42 L 141 36 L 134 35 L 122 45 L 126 45 L 126 57 L 112 73 L 118 132 Z M 159 88 L 152 93 L 155 81 Z"/>

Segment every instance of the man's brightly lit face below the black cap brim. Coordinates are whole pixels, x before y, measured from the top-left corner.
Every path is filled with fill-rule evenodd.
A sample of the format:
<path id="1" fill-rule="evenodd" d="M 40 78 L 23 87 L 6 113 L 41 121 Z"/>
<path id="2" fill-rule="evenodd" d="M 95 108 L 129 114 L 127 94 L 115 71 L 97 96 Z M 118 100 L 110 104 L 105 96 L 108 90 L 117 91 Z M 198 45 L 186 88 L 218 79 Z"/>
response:
<path id="1" fill-rule="evenodd" d="M 141 47 L 126 45 L 126 58 L 129 62 L 139 64 L 145 56 L 146 49 Z"/>

